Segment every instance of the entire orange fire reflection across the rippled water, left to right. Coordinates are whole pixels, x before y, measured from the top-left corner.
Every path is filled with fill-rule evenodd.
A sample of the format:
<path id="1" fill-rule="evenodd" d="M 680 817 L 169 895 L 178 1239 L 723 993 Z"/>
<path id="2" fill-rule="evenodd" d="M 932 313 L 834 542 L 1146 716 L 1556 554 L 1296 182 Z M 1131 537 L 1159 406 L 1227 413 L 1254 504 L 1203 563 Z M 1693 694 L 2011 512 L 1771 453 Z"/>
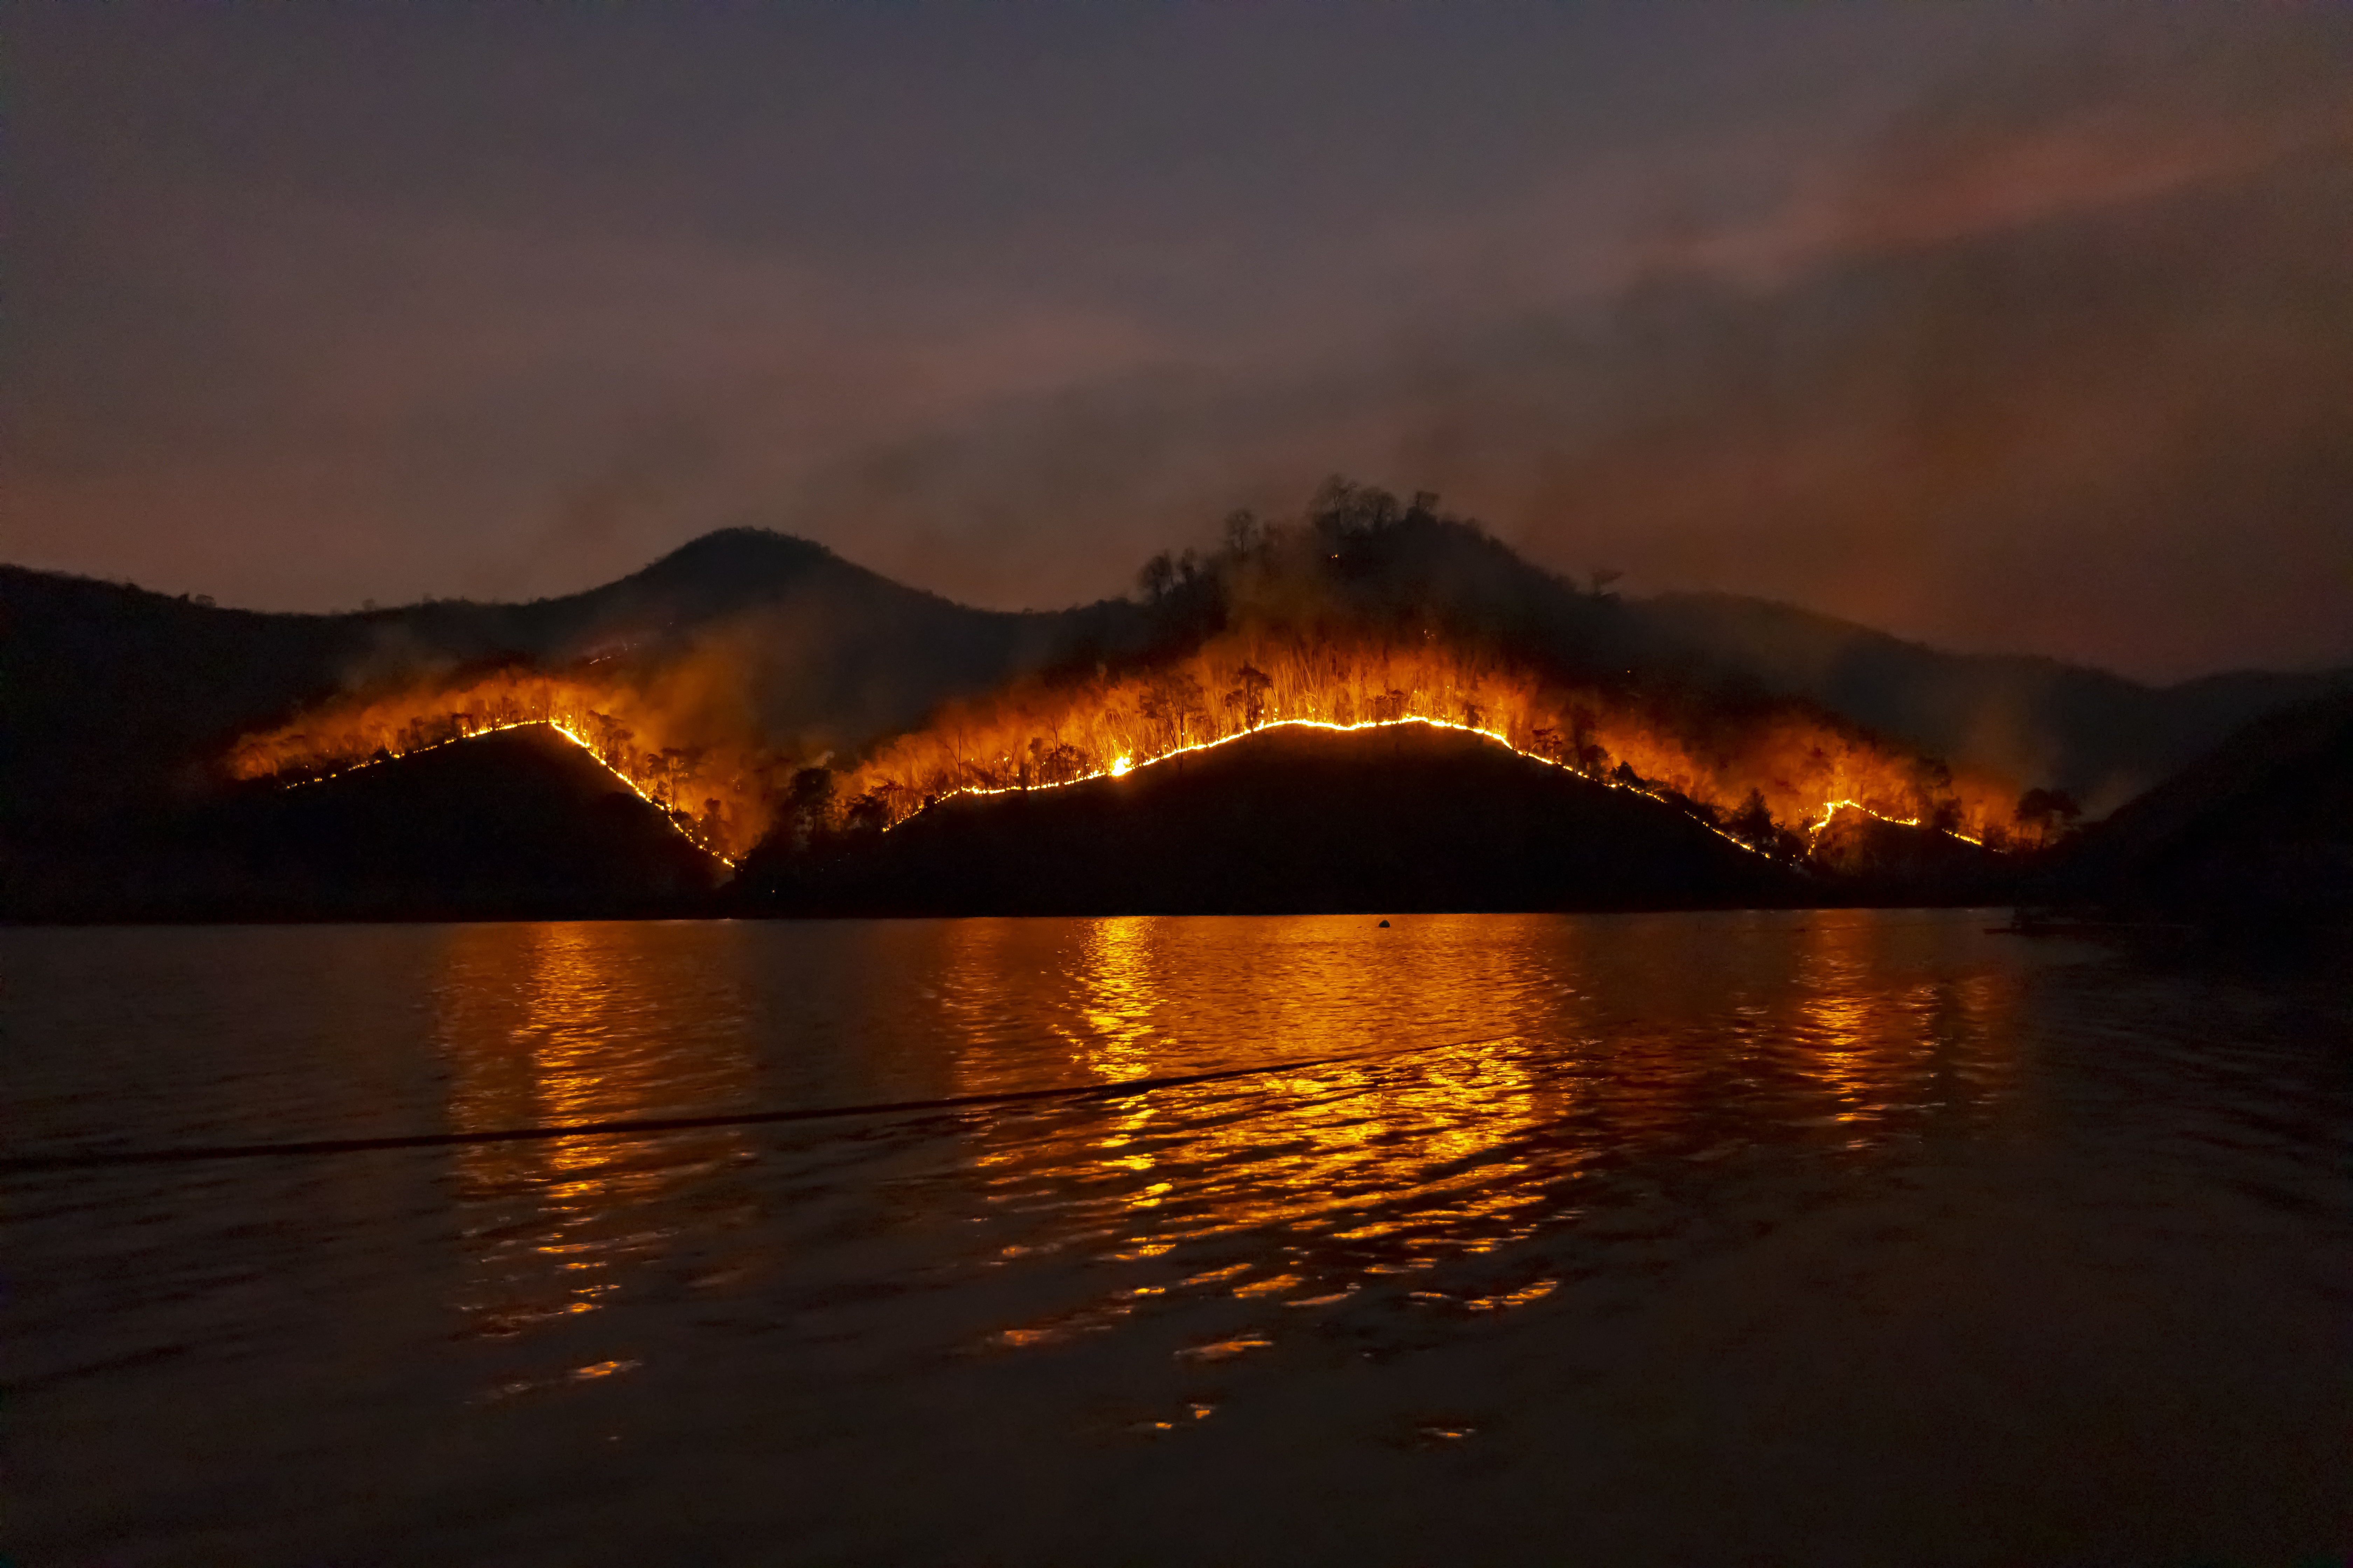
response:
<path id="1" fill-rule="evenodd" d="M 744 976 L 774 978 L 795 931 L 741 938 L 765 954 Z M 753 1081 L 786 1056 L 755 1067 L 741 1018 L 800 1018 L 798 1001 L 776 1013 L 784 992 L 732 983 L 708 954 L 722 938 L 739 940 L 452 931 L 438 987 L 452 1126 L 760 1105 Z M 878 1077 L 826 1081 L 824 1100 L 1155 1084 L 809 1128 L 807 1150 L 882 1126 L 906 1138 L 878 1222 L 953 1234 L 976 1267 L 1071 1281 L 986 1324 L 1000 1347 L 1200 1298 L 1238 1314 L 1217 1345 L 1280 1340 L 1360 1293 L 1459 1316 L 1539 1309 L 1572 1274 L 1544 1262 L 1548 1241 L 1522 1241 L 1661 1182 L 1715 1182 L 1755 1150 L 1887 1159 L 2014 1079 L 2017 976 L 1972 952 L 1995 938 L 1967 914 L 998 919 L 826 940 L 842 997 L 871 985 L 889 1006 L 845 1013 L 859 1020 L 838 1034 L 845 1060 L 875 1058 Z M 671 969 L 664 943 L 685 954 Z M 468 1333 L 607 1335 L 626 1314 L 598 1309 L 666 1276 L 687 1229 L 727 1225 L 715 1204 L 758 1213 L 746 1182 L 793 1168 L 807 1152 L 793 1140 L 711 1128 L 454 1150 Z M 584 1342 L 562 1378 L 642 1352 Z"/>

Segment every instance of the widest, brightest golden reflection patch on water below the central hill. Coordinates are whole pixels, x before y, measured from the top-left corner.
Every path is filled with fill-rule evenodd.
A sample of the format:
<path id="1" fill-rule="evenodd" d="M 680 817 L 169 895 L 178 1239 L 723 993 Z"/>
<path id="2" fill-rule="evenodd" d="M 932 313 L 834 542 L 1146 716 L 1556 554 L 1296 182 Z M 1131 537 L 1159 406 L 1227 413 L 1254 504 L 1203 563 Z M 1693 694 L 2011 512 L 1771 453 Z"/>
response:
<path id="1" fill-rule="evenodd" d="M 1066 950 L 1066 1006 L 1052 1030 L 1082 1079 L 1181 1074 L 1207 1056 L 1231 1060 L 1238 1037 L 1285 1063 L 1238 1084 L 1165 1088 L 1094 1107 L 1080 1119 L 1045 1112 L 1007 1124 L 974 1150 L 998 1197 L 1045 1204 L 1075 1239 L 1108 1241 L 1120 1258 L 1257 1229 L 1315 1232 L 1353 1262 L 1398 1272 L 1440 1253 L 1485 1251 L 1525 1234 L 1522 1211 L 1548 1201 L 1515 1178 L 1518 1128 L 1567 1103 L 1529 1070 L 1518 1027 L 1546 1023 L 1553 1004 L 1511 976 L 1511 952 L 1480 940 L 1492 922 L 1421 922 L 1419 940 L 1365 940 L 1369 922 L 1327 922 L 1308 940 L 1214 940 L 1200 922 L 1085 922 Z M 1285 926 L 1289 926 L 1285 931 Z M 951 933 L 953 936 L 953 933 Z M 1299 922 L 1264 922 L 1264 938 L 1299 938 Z M 1209 940 L 1205 940 L 1209 938 Z M 986 994 L 979 969 L 1005 957 L 1005 933 L 974 931 L 958 954 L 960 990 Z M 1028 959 L 1028 952 L 1024 952 Z M 1040 976 L 1009 964 L 1005 994 Z M 1412 1030 L 1435 1023 L 1485 1039 L 1438 1039 L 1409 1058 Z M 967 1081 L 967 1093 L 979 1084 Z M 1445 1229 L 1442 1246 L 1428 1246 Z M 1332 1269 L 1188 1284 L 1245 1298 L 1329 1298 Z M 1068 1321 L 1009 1331 L 1033 1342 Z"/>

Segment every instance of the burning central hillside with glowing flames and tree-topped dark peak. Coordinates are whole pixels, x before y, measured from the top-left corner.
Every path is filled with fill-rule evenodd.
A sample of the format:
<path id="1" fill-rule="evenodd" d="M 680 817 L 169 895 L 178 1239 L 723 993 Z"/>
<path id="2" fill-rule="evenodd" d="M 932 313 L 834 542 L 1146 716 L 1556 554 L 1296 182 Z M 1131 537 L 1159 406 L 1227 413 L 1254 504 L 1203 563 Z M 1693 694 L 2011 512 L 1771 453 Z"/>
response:
<path id="1" fill-rule="evenodd" d="M 1209 562 L 1146 567 L 1169 628 L 1151 656 L 948 705 L 833 780 L 833 799 L 889 827 L 936 799 L 1120 776 L 1271 726 L 1431 724 L 1666 799 L 1760 851 L 1802 851 L 1838 811 L 2019 835 L 2007 780 L 1802 703 L 1609 668 L 1614 599 L 1548 581 L 1546 604 L 1497 557 L 1520 567 L 1428 498 L 1329 487 L 1297 527 L 1235 517 Z"/>

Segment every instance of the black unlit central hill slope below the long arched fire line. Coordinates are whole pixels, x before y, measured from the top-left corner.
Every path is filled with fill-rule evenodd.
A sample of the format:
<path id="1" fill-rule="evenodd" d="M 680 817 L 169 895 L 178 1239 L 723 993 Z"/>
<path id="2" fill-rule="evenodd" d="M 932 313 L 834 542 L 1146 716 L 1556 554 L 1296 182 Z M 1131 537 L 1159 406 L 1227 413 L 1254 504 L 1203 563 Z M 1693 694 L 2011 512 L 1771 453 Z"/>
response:
<path id="1" fill-rule="evenodd" d="M 1654 910 L 1817 891 L 1694 818 L 1461 731 L 1268 729 L 746 860 L 779 914 Z"/>

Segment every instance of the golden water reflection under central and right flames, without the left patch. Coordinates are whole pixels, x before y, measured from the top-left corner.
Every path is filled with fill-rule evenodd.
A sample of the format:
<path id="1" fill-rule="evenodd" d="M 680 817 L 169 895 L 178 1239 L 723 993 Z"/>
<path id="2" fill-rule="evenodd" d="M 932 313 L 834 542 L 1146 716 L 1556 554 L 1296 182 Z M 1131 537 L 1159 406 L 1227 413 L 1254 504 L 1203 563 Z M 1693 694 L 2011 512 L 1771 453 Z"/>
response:
<path id="1" fill-rule="evenodd" d="M 1393 931 L 1297 917 L 1249 922 L 1247 938 L 1221 924 L 1242 922 L 1005 924 L 962 950 L 967 994 L 988 994 L 981 966 L 1002 961 L 998 1013 L 1040 1009 L 1096 1081 L 1252 1051 L 1348 1058 L 993 1121 L 972 1173 L 991 1213 L 1021 1215 L 1019 1255 L 1202 1260 L 1165 1291 L 1334 1305 L 1574 1222 L 1614 1168 L 1713 1173 L 1777 1143 L 1880 1147 L 1946 1105 L 1955 1072 L 1984 1072 L 1998 1032 L 1981 976 L 1920 978 L 1953 922 L 1922 938 L 1925 957 L 1889 952 L 1868 914 L 1424 917 Z M 1052 929 L 1068 931 L 1059 947 Z M 972 1053 L 960 1091 L 988 1084 Z M 1249 1262 L 1231 1262 L 1235 1248 Z M 1511 1312 L 1558 1284 L 1417 1298 Z M 1054 1342 L 1146 1305 L 1122 1288 L 1002 1342 Z"/>

